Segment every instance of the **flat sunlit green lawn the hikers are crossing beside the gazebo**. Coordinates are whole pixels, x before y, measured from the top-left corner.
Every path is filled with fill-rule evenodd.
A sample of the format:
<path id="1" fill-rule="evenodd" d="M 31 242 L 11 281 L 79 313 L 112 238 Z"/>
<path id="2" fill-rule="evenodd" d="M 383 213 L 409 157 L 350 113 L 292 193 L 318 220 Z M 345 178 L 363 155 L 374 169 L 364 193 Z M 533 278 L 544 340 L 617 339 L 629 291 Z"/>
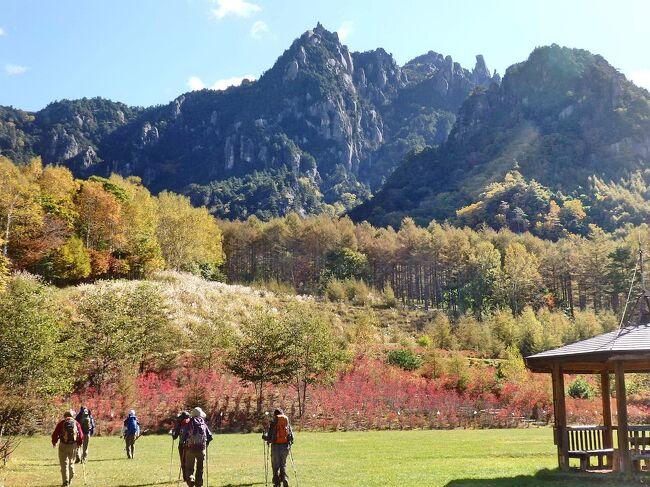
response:
<path id="1" fill-rule="evenodd" d="M 299 485 L 586 487 L 626 484 L 603 475 L 557 473 L 549 429 L 298 433 L 294 456 Z M 174 454 L 169 482 L 171 438 L 145 436 L 135 460 L 127 460 L 119 438 L 94 438 L 86 485 L 144 487 L 176 485 Z M 60 485 L 56 451 L 49 438 L 26 438 L 5 470 L 0 486 Z M 73 485 L 84 485 L 77 466 Z M 295 476 L 291 474 L 291 485 Z M 217 436 L 210 447 L 210 486 L 264 485 L 262 441 L 258 435 Z"/>

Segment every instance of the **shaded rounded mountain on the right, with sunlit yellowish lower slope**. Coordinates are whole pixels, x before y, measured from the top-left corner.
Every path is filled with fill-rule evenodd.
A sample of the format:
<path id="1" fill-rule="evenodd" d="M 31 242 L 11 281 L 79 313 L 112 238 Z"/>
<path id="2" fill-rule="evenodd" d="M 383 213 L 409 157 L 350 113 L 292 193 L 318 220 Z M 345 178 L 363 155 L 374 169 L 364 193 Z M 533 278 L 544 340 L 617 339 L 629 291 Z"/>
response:
<path id="1" fill-rule="evenodd" d="M 543 233 L 569 202 L 565 213 L 586 212 L 582 231 L 611 230 L 650 215 L 648 162 L 650 94 L 601 56 L 552 45 L 475 91 L 448 141 L 409 157 L 351 215 Z"/>

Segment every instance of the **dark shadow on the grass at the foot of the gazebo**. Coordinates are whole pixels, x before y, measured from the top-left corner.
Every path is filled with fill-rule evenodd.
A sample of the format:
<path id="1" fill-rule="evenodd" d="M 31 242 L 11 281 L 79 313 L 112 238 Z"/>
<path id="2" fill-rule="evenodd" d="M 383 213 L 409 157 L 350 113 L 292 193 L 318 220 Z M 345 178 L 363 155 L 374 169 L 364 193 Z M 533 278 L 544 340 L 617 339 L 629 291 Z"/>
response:
<path id="1" fill-rule="evenodd" d="M 624 480 L 616 473 L 584 473 L 561 472 L 555 470 L 540 470 L 535 475 L 518 475 L 517 477 L 503 477 L 496 479 L 459 479 L 452 480 L 445 487 L 548 487 L 555 485 L 566 486 L 636 486 L 647 485 L 648 477 Z"/>

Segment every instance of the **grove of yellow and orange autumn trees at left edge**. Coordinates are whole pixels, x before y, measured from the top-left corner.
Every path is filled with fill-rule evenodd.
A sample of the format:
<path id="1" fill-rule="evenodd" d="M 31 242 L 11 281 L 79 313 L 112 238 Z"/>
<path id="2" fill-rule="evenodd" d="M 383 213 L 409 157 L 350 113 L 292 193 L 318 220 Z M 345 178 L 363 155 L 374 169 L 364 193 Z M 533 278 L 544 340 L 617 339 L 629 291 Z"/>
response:
<path id="1" fill-rule="evenodd" d="M 0 157 L 0 275 L 27 270 L 57 284 L 141 278 L 156 270 L 218 273 L 222 235 L 187 197 L 157 197 L 139 178 L 75 179 L 40 158 Z"/>

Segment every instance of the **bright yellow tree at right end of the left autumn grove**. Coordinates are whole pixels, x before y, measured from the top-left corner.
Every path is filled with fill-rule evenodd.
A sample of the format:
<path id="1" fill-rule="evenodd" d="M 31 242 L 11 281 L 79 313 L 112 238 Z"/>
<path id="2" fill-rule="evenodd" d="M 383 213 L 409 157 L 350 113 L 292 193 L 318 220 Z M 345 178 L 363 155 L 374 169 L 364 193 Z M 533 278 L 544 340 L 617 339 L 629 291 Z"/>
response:
<path id="1" fill-rule="evenodd" d="M 189 198 L 163 191 L 158 195 L 158 242 L 167 267 L 223 263 L 222 235 L 207 208 L 194 208 Z"/>

